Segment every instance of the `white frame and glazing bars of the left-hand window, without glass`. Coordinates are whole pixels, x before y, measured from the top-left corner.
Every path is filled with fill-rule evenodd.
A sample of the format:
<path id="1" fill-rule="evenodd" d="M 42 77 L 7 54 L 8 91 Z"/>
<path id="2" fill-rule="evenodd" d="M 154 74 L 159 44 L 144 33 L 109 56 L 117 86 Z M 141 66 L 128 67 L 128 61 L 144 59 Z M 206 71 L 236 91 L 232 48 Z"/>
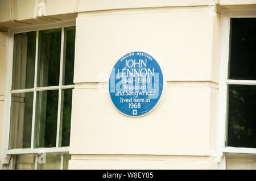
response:
<path id="1" fill-rule="evenodd" d="M 44 24 L 39 26 L 22 27 L 9 29 L 7 33 L 7 73 L 6 73 L 6 91 L 5 91 L 5 107 L 3 115 L 3 141 L 2 141 L 2 159 L 1 167 L 3 164 L 9 165 L 11 155 L 19 154 L 36 154 L 35 161 L 38 160 L 38 153 L 61 153 L 60 169 L 63 169 L 63 155 L 69 153 L 69 146 L 59 147 L 59 133 L 60 133 L 60 110 L 61 110 L 61 90 L 75 88 L 75 85 L 62 85 L 63 77 L 63 49 L 64 49 L 64 28 L 76 26 L 75 20 Z M 49 30 L 53 28 L 61 28 L 61 51 L 60 51 L 60 80 L 58 86 L 37 87 L 37 68 L 38 68 L 38 38 L 39 31 Z M 12 71 L 13 71 L 13 47 L 14 47 L 14 34 L 22 32 L 36 31 L 36 52 L 35 52 L 35 77 L 34 88 L 11 90 L 12 84 Z M 35 107 L 36 107 L 36 91 L 43 90 L 59 90 L 58 99 L 58 112 L 57 112 L 57 137 L 56 147 L 53 148 L 34 148 L 34 125 L 35 125 Z M 32 114 L 32 131 L 31 131 L 31 148 L 26 149 L 10 149 L 9 150 L 9 133 L 10 133 L 10 115 L 11 115 L 11 93 L 34 92 L 33 97 L 33 114 Z M 10 163 L 11 164 L 11 163 Z M 36 169 L 37 164 L 35 164 Z"/>

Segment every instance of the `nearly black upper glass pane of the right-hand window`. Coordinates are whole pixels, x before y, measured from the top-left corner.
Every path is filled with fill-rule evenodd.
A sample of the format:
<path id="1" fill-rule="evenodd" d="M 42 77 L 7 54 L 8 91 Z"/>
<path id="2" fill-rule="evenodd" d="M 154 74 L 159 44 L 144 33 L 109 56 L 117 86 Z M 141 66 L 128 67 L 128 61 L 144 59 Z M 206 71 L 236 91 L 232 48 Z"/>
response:
<path id="1" fill-rule="evenodd" d="M 256 18 L 232 18 L 230 79 L 256 80 Z"/>

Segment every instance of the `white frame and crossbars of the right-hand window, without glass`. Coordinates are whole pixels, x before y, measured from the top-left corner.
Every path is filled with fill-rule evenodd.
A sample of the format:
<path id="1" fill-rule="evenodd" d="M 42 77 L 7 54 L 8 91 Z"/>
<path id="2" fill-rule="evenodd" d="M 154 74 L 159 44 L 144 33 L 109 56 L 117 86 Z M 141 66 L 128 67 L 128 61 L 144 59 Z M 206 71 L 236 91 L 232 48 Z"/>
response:
<path id="1" fill-rule="evenodd" d="M 256 10 L 223 10 L 222 11 L 222 37 L 221 37 L 221 68 L 220 68 L 220 96 L 218 106 L 218 155 L 222 157 L 219 169 L 225 169 L 225 153 L 256 154 L 256 148 L 236 148 L 225 146 L 228 128 L 228 85 L 256 85 L 252 80 L 228 79 L 229 71 L 229 34 L 230 18 L 256 18 Z"/>

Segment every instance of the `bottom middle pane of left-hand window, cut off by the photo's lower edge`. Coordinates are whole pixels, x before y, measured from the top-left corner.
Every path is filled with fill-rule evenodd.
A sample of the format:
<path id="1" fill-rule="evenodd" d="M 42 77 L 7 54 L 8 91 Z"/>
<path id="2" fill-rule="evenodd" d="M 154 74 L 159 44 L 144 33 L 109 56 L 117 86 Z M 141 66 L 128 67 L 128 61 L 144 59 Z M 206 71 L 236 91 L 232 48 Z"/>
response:
<path id="1" fill-rule="evenodd" d="M 38 170 L 60 170 L 60 160 L 61 153 L 47 153 L 46 161 L 38 162 Z"/>

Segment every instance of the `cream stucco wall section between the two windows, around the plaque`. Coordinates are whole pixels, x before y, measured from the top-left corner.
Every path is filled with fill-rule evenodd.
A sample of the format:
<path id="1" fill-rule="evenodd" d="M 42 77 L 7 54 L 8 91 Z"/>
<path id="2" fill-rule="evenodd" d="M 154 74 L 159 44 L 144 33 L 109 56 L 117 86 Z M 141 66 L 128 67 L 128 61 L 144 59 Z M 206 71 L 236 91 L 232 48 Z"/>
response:
<path id="1" fill-rule="evenodd" d="M 208 6 L 79 14 L 69 168 L 216 168 L 220 23 Z M 106 86 L 133 50 L 151 54 L 167 83 L 158 107 L 138 118 L 115 110 Z"/>

